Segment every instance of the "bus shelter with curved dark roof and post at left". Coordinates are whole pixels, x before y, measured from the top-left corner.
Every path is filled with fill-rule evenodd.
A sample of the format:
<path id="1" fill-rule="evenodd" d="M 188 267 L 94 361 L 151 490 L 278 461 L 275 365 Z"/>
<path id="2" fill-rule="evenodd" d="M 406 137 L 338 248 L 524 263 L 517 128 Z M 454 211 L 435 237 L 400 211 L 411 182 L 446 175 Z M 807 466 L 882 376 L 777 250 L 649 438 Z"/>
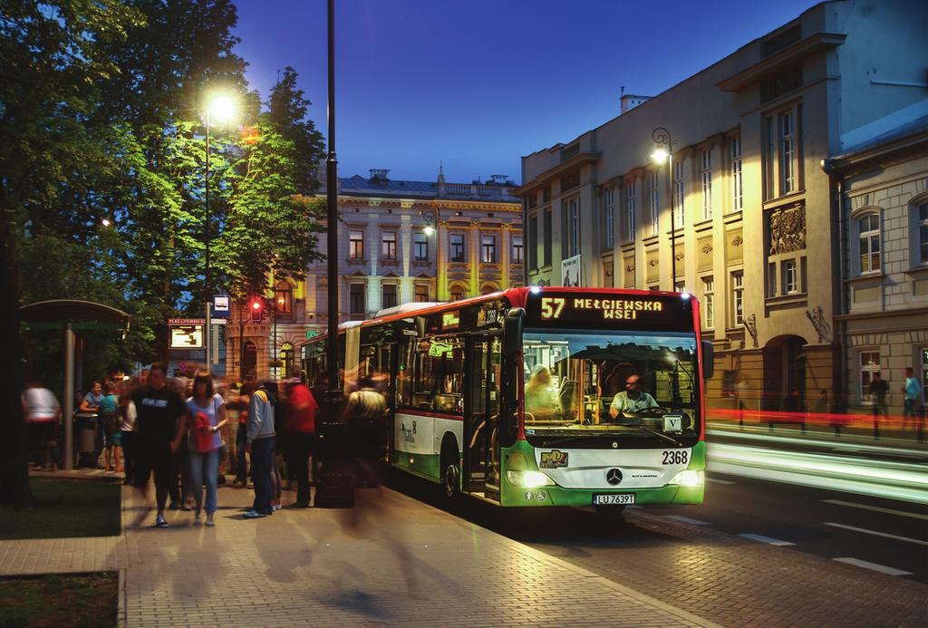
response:
<path id="1" fill-rule="evenodd" d="M 37 301 L 19 307 L 19 316 L 29 330 L 64 332 L 64 468 L 74 468 L 74 382 L 75 366 L 80 366 L 78 333 L 118 331 L 125 338 L 132 316 L 109 305 L 76 299 Z M 83 369 L 82 369 L 83 370 Z"/>

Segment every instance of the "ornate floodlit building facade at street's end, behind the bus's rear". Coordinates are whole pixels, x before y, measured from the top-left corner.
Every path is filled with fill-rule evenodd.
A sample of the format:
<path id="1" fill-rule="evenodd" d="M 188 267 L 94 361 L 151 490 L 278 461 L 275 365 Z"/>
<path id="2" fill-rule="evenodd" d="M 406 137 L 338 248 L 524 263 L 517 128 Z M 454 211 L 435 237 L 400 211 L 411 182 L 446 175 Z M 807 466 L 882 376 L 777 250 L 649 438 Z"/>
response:
<path id="1" fill-rule="evenodd" d="M 501 175 L 447 183 L 444 173 L 422 182 L 371 170 L 340 179 L 339 322 L 413 301 L 457 301 L 522 286 L 522 205 L 514 189 Z M 318 199 L 325 196 L 323 189 Z M 226 336 L 230 377 L 298 373 L 300 347 L 328 326 L 325 237 L 318 249 L 324 259 L 302 281 L 270 277 L 266 311 L 252 315 L 251 301 L 235 304 Z"/>

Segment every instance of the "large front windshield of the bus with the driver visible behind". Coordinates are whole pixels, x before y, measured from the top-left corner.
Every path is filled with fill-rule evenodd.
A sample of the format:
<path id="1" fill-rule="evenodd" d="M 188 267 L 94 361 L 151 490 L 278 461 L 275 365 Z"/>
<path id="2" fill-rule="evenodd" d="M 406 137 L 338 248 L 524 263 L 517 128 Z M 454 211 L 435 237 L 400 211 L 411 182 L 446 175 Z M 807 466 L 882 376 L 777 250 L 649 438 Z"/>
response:
<path id="1" fill-rule="evenodd" d="M 526 329 L 522 347 L 530 442 L 608 436 L 666 446 L 698 437 L 694 333 Z"/>

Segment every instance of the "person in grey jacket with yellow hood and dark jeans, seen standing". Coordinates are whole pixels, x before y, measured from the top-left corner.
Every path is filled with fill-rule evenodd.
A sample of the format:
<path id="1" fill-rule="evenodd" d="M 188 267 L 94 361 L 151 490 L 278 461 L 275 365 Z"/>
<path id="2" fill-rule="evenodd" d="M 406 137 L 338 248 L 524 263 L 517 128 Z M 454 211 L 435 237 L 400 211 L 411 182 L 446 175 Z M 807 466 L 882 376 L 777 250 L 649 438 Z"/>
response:
<path id="1" fill-rule="evenodd" d="M 251 477 L 254 482 L 254 503 L 245 513 L 248 519 L 274 514 L 271 506 L 272 475 L 274 473 L 274 406 L 277 404 L 277 382 L 264 383 L 251 394 L 248 406 L 248 443 L 251 450 Z"/>

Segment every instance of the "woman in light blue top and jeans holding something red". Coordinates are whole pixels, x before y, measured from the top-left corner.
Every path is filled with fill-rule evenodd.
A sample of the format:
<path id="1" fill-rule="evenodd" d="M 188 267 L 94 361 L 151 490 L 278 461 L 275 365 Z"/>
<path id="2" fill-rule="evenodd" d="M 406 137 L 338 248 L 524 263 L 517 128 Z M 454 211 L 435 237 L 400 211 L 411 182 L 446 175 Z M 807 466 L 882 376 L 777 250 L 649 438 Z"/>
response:
<path id="1" fill-rule="evenodd" d="M 206 484 L 206 525 L 213 526 L 213 514 L 218 503 L 217 474 L 219 453 L 223 446 L 219 430 L 226 425 L 226 403 L 222 395 L 213 391 L 213 378 L 201 371 L 193 378 L 193 395 L 187 399 L 187 416 L 190 417 L 190 434 L 187 448 L 190 452 L 190 483 L 197 504 L 195 518 L 200 520 L 203 510 L 203 484 Z"/>

